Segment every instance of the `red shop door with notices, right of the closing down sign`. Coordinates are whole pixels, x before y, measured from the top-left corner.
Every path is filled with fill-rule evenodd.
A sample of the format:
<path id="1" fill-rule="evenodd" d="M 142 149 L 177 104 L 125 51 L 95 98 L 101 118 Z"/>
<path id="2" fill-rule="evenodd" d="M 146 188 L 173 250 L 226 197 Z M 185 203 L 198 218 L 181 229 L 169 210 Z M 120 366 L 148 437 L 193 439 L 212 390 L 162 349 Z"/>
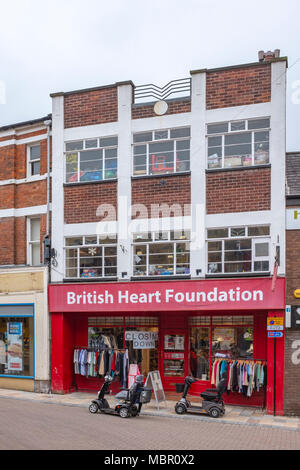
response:
<path id="1" fill-rule="evenodd" d="M 188 375 L 187 333 L 184 329 L 163 329 L 161 335 L 160 371 L 166 390 L 174 390 Z"/>

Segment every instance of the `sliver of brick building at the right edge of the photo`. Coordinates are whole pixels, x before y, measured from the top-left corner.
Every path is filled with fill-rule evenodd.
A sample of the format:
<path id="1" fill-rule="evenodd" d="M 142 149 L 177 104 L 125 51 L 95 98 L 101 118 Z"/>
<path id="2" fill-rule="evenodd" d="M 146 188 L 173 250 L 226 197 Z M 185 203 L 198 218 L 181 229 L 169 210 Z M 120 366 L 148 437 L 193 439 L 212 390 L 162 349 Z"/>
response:
<path id="1" fill-rule="evenodd" d="M 286 330 L 284 413 L 300 413 L 300 153 L 286 156 Z"/>

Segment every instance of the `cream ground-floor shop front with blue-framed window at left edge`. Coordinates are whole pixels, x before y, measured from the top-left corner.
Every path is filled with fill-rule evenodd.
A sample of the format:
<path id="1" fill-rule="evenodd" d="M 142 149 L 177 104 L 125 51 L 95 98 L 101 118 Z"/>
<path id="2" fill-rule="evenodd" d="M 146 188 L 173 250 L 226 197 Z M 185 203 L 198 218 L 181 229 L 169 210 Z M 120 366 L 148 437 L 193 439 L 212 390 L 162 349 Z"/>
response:
<path id="1" fill-rule="evenodd" d="M 47 270 L 0 270 L 0 388 L 50 388 Z"/>

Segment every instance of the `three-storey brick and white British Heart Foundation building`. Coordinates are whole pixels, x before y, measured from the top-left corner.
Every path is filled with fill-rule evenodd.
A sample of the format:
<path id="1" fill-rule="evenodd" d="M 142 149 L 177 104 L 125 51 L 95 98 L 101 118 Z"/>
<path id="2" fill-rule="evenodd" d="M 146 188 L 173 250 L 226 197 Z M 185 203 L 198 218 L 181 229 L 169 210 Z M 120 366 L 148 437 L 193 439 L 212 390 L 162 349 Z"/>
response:
<path id="1" fill-rule="evenodd" d="M 238 364 L 226 400 L 283 413 L 267 319 L 285 308 L 286 67 L 275 51 L 163 89 L 51 95 L 54 392 L 97 389 L 105 343 L 170 391 Z M 83 350 L 101 358 L 78 373 Z"/>

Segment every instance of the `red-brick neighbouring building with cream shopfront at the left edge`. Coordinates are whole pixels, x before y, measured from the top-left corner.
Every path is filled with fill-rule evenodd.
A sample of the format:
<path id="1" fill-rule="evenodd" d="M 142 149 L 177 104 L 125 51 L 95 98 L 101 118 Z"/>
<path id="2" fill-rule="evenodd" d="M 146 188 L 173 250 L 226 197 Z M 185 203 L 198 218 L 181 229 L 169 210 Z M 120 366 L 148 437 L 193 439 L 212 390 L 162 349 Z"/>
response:
<path id="1" fill-rule="evenodd" d="M 50 123 L 45 116 L 0 128 L 1 388 L 50 389 Z"/>

